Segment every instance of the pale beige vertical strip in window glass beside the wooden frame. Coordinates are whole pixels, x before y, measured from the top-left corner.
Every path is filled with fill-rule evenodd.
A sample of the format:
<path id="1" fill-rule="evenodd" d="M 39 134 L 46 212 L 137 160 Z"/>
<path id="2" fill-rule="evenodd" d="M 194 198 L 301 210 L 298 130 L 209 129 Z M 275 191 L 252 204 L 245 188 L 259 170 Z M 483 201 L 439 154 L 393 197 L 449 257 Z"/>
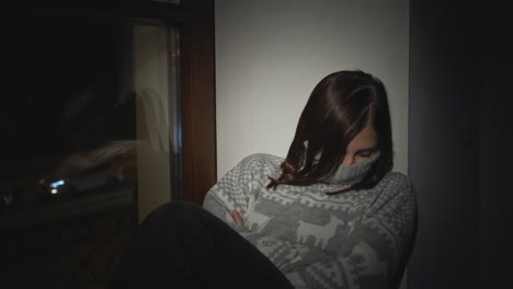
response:
<path id="1" fill-rule="evenodd" d="M 169 192 L 176 196 L 180 190 L 181 125 L 180 97 L 176 97 L 180 50 L 175 30 L 138 24 L 133 35 L 137 139 L 140 140 L 138 207 L 142 220 L 152 209 L 170 200 Z"/>

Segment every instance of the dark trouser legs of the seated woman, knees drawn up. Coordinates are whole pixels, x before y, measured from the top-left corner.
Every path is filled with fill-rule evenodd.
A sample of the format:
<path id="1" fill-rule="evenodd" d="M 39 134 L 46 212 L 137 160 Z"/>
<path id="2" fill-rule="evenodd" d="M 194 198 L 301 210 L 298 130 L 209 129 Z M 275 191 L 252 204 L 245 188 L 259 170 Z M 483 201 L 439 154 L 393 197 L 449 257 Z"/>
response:
<path id="1" fill-rule="evenodd" d="M 293 288 L 256 247 L 205 209 L 168 203 L 142 222 L 111 288 Z"/>

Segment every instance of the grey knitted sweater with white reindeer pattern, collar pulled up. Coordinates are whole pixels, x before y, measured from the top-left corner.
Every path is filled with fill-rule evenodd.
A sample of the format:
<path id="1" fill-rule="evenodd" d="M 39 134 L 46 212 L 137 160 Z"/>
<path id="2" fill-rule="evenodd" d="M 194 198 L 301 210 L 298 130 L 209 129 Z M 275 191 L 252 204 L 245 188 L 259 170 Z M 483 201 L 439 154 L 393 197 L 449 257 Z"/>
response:
<path id="1" fill-rule="evenodd" d="M 238 230 L 296 288 L 397 286 L 417 226 L 408 177 L 388 173 L 371 189 L 331 196 L 324 193 L 354 182 L 266 189 L 267 176 L 278 177 L 282 162 L 263 153 L 247 157 L 212 187 L 204 208 Z M 240 212 L 246 228 L 236 228 L 231 210 Z"/>

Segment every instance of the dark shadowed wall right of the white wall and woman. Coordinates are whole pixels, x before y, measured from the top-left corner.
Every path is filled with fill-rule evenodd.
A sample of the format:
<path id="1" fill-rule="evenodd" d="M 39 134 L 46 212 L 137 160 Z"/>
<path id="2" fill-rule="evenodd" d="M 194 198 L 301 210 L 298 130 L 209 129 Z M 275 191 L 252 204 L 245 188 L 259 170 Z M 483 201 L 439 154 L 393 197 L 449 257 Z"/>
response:
<path id="1" fill-rule="evenodd" d="M 510 282 L 513 244 L 506 10 L 422 0 L 410 9 L 409 174 L 419 232 L 408 286 L 500 288 Z"/>

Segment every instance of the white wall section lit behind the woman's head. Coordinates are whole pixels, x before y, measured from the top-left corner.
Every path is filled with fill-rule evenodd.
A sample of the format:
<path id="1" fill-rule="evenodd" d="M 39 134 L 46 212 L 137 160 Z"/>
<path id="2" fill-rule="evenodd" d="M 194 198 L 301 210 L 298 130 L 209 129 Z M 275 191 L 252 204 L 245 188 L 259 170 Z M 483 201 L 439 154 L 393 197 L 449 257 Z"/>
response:
<path id="1" fill-rule="evenodd" d="M 362 69 L 388 88 L 396 170 L 408 167 L 408 0 L 216 1 L 217 176 L 285 157 L 314 86 Z"/>

